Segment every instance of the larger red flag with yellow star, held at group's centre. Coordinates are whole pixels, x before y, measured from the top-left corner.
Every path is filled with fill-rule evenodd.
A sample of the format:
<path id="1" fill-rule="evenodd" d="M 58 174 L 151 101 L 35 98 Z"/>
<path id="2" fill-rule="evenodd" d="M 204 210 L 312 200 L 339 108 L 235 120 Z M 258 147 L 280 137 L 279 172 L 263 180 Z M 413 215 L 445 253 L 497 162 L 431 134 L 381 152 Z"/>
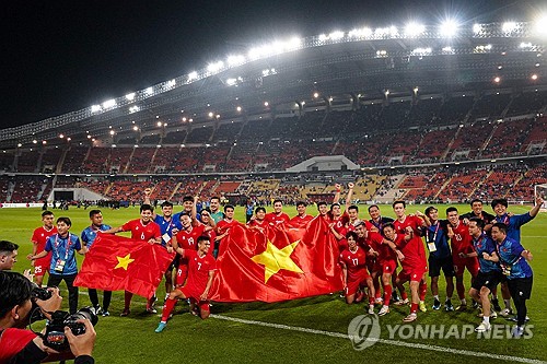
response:
<path id="1" fill-rule="evenodd" d="M 232 227 L 222 242 L 209 298 L 279 302 L 341 291 L 338 244 L 324 219 L 307 228 Z"/>

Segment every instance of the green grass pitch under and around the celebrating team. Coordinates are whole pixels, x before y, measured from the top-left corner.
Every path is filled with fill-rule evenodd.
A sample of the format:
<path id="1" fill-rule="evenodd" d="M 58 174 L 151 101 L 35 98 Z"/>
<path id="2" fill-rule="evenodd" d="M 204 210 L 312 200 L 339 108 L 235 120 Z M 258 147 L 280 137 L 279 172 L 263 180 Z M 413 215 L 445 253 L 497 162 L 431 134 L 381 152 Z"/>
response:
<path id="1" fill-rule="evenodd" d="M 408 212 L 417 208 L 423 211 L 426 206 L 408 207 Z M 445 207 L 439 207 L 443 216 Z M 385 215 L 393 216 L 391 207 L 381 208 Z M 458 206 L 461 212 L 467 212 L 467 206 Z M 486 209 L 490 211 L 489 208 Z M 514 213 L 524 213 L 529 207 L 510 207 Z M 178 209 L 175 209 L 178 211 Z M 293 215 L 294 208 L 286 211 Z M 365 215 L 366 207 L 361 208 L 360 216 Z M 16 271 L 30 268 L 25 256 L 31 253 L 32 231 L 40 225 L 39 209 L 1 209 L 1 239 L 18 243 L 20 259 Z M 89 224 L 88 211 L 71 208 L 69 211 L 54 210 L 56 218 L 68 215 L 73 225 L 71 232 L 80 234 Z M 309 212 L 315 213 L 313 208 Z M 139 216 L 138 208 L 121 210 L 103 209 L 104 222 L 118 226 L 130 219 Z M 236 219 L 244 221 L 244 209 L 236 208 Z M 494 363 L 514 361 L 537 363 L 547 361 L 547 214 L 539 215 L 522 228 L 522 243 L 533 255 L 534 287 L 528 301 L 529 325 L 533 336 L 526 340 L 485 339 L 476 333 L 466 338 L 422 339 L 400 337 L 389 338 L 387 326 L 401 325 L 408 314 L 408 307 L 393 307 L 389 315 L 380 318 L 381 342 L 362 350 L 353 349 L 347 333 L 349 322 L 358 315 L 364 314 L 364 305 L 347 305 L 338 294 L 311 297 L 305 300 L 264 304 L 213 304 L 212 314 L 221 315 L 208 320 L 200 320 L 188 313 L 185 303 L 178 303 L 175 316 L 170 320 L 164 332 L 158 334 L 154 328 L 159 322 L 158 315 L 144 313 L 144 298 L 133 297 L 132 312 L 129 317 L 118 317 L 123 309 L 123 293 L 116 292 L 110 306 L 110 317 L 101 317 L 95 329 L 97 341 L 94 356 L 97 363 Z M 78 256 L 81 263 L 82 257 Z M 440 280 L 441 298 L 444 298 L 443 278 Z M 429 282 L 428 282 L 429 285 Z M 63 295 L 67 296 L 61 283 Z M 466 290 L 469 287 L 469 275 L 466 273 Z M 429 286 L 428 286 L 429 290 Z M 164 296 L 164 285 L 158 290 L 159 297 Z M 456 295 L 454 294 L 454 297 Z M 432 297 L 427 296 L 428 312 L 419 313 L 420 324 L 476 326 L 480 319 L 477 312 L 470 308 L 466 313 L 444 313 L 431 309 Z M 162 300 L 161 300 L 162 301 Z M 455 304 L 456 300 L 453 300 Z M 86 290 L 80 290 L 80 306 L 89 305 Z M 68 309 L 68 300 L 63 302 Z M 160 307 L 159 307 L 160 308 Z M 242 319 L 240 321 L 225 318 Z M 224 319 L 223 319 L 224 318 Z M 249 321 L 278 324 L 261 326 Z M 503 318 L 492 320 L 493 324 L 513 324 Z M 316 331 L 298 331 L 305 328 Z M 400 331 L 403 332 L 403 331 Z M 341 336 L 340 336 L 341 334 Z M 409 347 L 408 343 L 416 345 Z M 445 350 L 444 350 L 445 349 Z M 503 355 L 503 356 L 500 356 Z"/>

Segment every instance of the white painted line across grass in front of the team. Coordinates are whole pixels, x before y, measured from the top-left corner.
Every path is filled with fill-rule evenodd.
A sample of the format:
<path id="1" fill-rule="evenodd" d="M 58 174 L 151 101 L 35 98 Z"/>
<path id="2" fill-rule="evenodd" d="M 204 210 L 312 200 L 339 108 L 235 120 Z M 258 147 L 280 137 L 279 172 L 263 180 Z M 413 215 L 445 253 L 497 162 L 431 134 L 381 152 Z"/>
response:
<path id="1" fill-rule="evenodd" d="M 216 315 L 216 314 L 212 314 L 211 317 L 218 318 L 221 320 L 226 320 L 226 321 L 271 327 L 271 328 L 276 328 L 276 329 L 290 330 L 290 331 L 323 334 L 326 337 L 334 337 L 334 338 L 349 340 L 349 337 L 346 333 L 341 333 L 341 332 L 323 331 L 323 330 L 309 329 L 309 328 L 299 327 L 299 326 L 289 326 L 289 325 L 281 325 L 281 324 L 270 324 L 270 322 L 264 322 L 264 321 L 247 320 L 247 319 L 243 319 L 243 318 L 235 318 L 235 317 L 229 317 L 229 316 Z M 386 339 L 377 339 L 377 342 L 388 344 L 388 345 L 395 345 L 395 347 L 418 348 L 418 349 L 437 351 L 437 352 L 442 352 L 442 353 L 451 353 L 451 354 L 475 356 L 475 357 L 488 357 L 488 359 L 496 359 L 496 360 L 502 360 L 502 361 L 508 361 L 508 362 L 519 362 L 519 363 L 527 363 L 527 364 L 547 364 L 547 362 L 536 360 L 536 359 L 519 357 L 519 356 L 511 356 L 511 355 L 499 355 L 499 354 L 491 354 L 491 353 L 484 353 L 484 352 L 461 350 L 461 349 L 452 349 L 452 348 L 438 347 L 438 345 L 427 345 L 427 344 L 421 344 L 421 343 L 416 343 L 416 342 L 405 342 L 405 341 L 386 340 Z"/>

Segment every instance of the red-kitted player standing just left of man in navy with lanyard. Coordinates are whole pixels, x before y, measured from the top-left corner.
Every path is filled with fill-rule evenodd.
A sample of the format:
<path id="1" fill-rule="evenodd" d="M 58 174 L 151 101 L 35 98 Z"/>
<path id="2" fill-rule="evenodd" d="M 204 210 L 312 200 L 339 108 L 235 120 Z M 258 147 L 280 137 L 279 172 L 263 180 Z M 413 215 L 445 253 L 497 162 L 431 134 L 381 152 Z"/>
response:
<path id="1" fill-rule="evenodd" d="M 396 220 L 393 223 L 395 232 L 401 236 L 398 248 L 405 256 L 400 261 L 403 270 L 397 275 L 397 285 L 410 281 L 411 304 L 410 314 L 405 317 L 405 322 L 415 321 L 417 318 L 418 307 L 421 312 L 426 312 L 426 293 L 428 284 L 426 283 L 426 272 L 428 263 L 426 260 L 426 250 L 420 238 L 422 228 L 427 227 L 426 222 L 417 216 L 406 214 L 405 201 L 395 201 L 392 204 Z M 404 236 L 404 238 L 403 238 Z M 405 303 L 404 301 L 401 302 Z"/>

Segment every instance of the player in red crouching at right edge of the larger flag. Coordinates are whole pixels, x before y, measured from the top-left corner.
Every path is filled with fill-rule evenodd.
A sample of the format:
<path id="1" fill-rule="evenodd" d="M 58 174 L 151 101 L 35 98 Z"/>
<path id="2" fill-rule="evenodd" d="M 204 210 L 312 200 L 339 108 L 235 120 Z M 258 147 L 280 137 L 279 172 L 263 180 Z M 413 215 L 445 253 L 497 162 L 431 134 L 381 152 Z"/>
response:
<path id="1" fill-rule="evenodd" d="M 340 254 L 339 259 L 344 273 L 346 302 L 348 304 L 361 302 L 364 295 L 362 290 L 365 285 L 369 286 L 369 297 L 372 296 L 372 300 L 374 300 L 372 278 L 366 271 L 366 253 L 358 245 L 358 234 L 356 232 L 349 232 L 346 235 L 346 239 L 348 242 L 348 248 Z M 372 301 L 369 313 L 374 314 L 374 301 Z"/>

